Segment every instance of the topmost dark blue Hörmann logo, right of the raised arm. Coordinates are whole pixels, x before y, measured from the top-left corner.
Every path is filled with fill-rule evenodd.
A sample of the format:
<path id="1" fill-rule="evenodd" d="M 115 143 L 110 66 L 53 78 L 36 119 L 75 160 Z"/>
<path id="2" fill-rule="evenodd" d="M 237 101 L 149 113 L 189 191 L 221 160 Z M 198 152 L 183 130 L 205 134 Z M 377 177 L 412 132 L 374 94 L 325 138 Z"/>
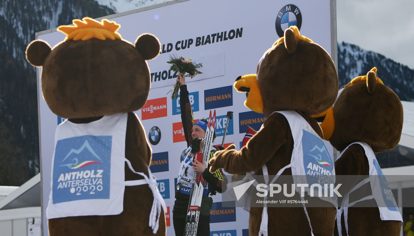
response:
<path id="1" fill-rule="evenodd" d="M 204 90 L 204 109 L 233 106 L 233 86 Z"/>

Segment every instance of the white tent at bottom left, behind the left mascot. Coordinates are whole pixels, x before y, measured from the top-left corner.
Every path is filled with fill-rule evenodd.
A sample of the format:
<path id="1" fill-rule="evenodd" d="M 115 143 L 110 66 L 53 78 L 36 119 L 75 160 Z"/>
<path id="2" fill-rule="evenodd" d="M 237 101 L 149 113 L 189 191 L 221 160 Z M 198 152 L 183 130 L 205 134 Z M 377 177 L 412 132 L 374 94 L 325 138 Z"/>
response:
<path id="1" fill-rule="evenodd" d="M 19 188 L 1 188 L 0 234 L 2 236 L 40 236 L 40 173 Z M 13 191 L 12 191 L 13 190 Z"/>

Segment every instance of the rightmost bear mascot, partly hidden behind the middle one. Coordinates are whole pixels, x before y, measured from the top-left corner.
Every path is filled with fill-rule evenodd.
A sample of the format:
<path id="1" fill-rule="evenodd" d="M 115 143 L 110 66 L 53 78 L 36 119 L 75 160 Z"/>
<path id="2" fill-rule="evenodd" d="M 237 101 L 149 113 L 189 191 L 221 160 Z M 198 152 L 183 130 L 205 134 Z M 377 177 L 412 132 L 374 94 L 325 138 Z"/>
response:
<path id="1" fill-rule="evenodd" d="M 349 176 L 353 183 L 341 190 L 345 195 L 335 235 L 400 235 L 402 217 L 374 153 L 397 146 L 403 109 L 398 96 L 375 77 L 376 72 L 374 67 L 366 76 L 352 79 L 339 90 L 333 108 L 317 115 L 324 117 L 324 139 L 341 151 L 336 174 L 361 176 Z M 361 196 L 367 199 L 358 202 Z"/>

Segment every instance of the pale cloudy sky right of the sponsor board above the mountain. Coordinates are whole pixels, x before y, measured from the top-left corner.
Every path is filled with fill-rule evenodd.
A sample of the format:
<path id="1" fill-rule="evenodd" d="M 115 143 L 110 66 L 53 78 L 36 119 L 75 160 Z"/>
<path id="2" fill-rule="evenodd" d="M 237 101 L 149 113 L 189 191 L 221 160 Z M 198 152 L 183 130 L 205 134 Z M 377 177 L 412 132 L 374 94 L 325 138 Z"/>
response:
<path id="1" fill-rule="evenodd" d="M 337 0 L 337 34 L 414 69 L 414 0 Z"/>

